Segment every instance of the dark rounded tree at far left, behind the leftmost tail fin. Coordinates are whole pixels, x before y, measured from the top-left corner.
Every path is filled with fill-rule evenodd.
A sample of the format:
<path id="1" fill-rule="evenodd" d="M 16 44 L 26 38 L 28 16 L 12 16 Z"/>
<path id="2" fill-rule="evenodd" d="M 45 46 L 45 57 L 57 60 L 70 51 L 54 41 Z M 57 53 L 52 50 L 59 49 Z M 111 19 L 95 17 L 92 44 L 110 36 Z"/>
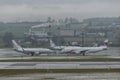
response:
<path id="1" fill-rule="evenodd" d="M 12 45 L 12 39 L 14 38 L 11 32 L 6 32 L 3 36 L 3 42 L 5 43 L 6 47 L 10 47 Z"/>

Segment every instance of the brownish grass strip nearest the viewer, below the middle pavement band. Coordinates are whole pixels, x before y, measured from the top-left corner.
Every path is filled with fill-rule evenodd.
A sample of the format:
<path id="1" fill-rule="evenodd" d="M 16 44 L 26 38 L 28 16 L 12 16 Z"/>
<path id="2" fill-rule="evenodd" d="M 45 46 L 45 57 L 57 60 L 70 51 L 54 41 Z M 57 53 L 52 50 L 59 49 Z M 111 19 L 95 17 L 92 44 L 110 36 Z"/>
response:
<path id="1" fill-rule="evenodd" d="M 0 76 L 33 74 L 33 73 L 104 73 L 119 72 L 120 69 L 0 69 Z"/>

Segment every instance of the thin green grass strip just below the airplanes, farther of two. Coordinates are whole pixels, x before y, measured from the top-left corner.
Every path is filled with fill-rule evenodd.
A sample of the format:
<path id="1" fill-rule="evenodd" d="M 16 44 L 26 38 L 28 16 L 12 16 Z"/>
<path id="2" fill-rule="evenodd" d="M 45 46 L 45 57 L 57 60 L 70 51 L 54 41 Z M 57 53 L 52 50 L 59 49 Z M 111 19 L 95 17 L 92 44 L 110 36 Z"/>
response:
<path id="1" fill-rule="evenodd" d="M 10 59 L 0 60 L 0 62 L 79 62 L 79 61 L 120 61 L 119 58 L 91 58 L 91 59 Z"/>

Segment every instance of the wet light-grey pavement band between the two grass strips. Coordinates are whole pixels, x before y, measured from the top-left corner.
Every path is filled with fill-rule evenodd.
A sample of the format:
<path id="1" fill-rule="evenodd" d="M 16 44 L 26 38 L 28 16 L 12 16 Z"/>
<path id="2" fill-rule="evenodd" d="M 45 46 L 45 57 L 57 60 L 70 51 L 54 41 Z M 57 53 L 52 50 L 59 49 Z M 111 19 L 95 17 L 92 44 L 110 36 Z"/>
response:
<path id="1" fill-rule="evenodd" d="M 0 62 L 0 69 L 120 69 L 120 62 Z"/>

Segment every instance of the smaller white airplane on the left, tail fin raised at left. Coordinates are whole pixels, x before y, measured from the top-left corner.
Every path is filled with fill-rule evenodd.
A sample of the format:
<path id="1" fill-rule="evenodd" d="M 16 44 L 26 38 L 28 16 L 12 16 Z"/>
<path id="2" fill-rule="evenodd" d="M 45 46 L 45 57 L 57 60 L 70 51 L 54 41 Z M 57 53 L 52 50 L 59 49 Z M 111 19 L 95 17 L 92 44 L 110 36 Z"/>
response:
<path id="1" fill-rule="evenodd" d="M 13 43 L 13 47 L 14 47 L 13 49 L 15 51 L 22 52 L 24 54 L 28 54 L 28 55 L 31 55 L 31 56 L 42 54 L 42 53 L 52 53 L 52 52 L 54 52 L 53 50 L 48 49 L 48 48 L 23 48 L 20 45 L 18 45 L 15 40 L 12 40 L 12 43 Z"/>

